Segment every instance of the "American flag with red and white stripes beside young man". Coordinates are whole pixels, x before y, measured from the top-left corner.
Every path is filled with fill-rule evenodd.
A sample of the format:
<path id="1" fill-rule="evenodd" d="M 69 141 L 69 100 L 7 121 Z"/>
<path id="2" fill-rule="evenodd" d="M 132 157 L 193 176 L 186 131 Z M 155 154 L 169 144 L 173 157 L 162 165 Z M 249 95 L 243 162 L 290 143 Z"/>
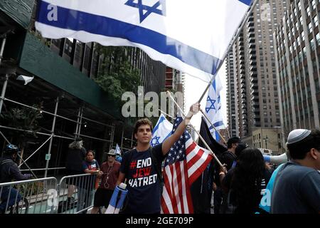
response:
<path id="1" fill-rule="evenodd" d="M 177 117 L 172 133 L 182 122 Z M 161 210 L 164 214 L 191 214 L 191 184 L 206 170 L 213 156 L 209 151 L 193 142 L 186 131 L 171 147 L 164 162 L 164 191 L 161 196 Z"/>

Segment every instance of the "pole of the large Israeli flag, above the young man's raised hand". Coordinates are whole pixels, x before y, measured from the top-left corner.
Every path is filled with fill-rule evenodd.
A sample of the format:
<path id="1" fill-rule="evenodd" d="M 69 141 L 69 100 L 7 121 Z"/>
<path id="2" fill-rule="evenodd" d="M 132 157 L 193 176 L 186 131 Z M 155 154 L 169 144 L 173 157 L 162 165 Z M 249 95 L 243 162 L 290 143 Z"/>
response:
<path id="1" fill-rule="evenodd" d="M 253 8 L 254 6 L 257 4 L 257 1 L 258 0 L 255 0 L 252 5 L 250 6 L 250 10 L 247 12 L 247 14 L 245 14 L 245 16 L 243 16 L 243 19 L 242 19 L 242 24 L 240 24 L 239 28 L 238 28 L 238 31 L 235 33 L 235 36 L 233 36 L 233 39 L 231 40 L 227 50 L 225 51 L 225 53 L 223 54 L 223 58 L 222 58 L 222 62 L 220 63 L 220 65 L 218 66 L 217 68 L 217 71 L 215 71 L 215 74 L 214 76 L 211 78 L 206 90 L 204 90 L 203 94 L 201 95 L 200 99 L 198 100 L 198 103 L 201 103 L 201 100 L 203 99 L 204 95 L 207 93 L 208 89 L 210 88 L 211 84 L 213 83 L 213 81 L 215 80 L 215 76 L 217 75 L 217 73 L 219 72 L 221 66 L 223 65 L 223 61 L 225 61 L 225 57 L 227 57 L 228 55 L 228 52 L 230 51 L 230 48 L 233 46 L 233 44 L 235 43 L 236 41 L 236 38 L 239 36 L 239 34 L 241 33 L 241 30 L 243 28 L 243 26 L 245 26 L 245 22 L 247 21 L 247 18 L 250 16 L 250 14 L 252 13 L 253 11 Z"/>

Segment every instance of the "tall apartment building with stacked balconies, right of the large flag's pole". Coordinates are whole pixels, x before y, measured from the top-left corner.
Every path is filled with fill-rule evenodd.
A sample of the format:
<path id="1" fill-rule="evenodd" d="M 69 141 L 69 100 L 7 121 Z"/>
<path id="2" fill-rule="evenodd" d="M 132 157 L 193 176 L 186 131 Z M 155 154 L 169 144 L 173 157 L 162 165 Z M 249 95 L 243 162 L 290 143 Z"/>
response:
<path id="1" fill-rule="evenodd" d="M 227 78 L 231 118 L 228 118 L 228 125 L 233 136 L 252 137 L 255 128 L 280 125 L 272 34 L 287 6 L 286 0 L 257 1 L 230 50 Z"/>

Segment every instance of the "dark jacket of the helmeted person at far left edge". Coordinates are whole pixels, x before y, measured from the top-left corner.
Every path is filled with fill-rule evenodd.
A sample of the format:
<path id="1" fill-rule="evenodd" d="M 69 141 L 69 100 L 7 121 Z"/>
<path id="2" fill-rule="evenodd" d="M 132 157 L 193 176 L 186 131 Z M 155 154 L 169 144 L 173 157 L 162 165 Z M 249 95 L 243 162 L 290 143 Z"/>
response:
<path id="1" fill-rule="evenodd" d="M 0 183 L 14 180 L 28 180 L 29 175 L 21 174 L 16 162 L 11 157 L 0 157 Z"/>

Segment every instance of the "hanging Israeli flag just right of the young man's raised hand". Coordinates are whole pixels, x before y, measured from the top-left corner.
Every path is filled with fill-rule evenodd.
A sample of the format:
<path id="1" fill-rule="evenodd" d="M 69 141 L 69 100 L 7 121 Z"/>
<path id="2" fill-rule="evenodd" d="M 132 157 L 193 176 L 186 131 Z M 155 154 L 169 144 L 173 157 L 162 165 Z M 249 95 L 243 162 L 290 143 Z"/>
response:
<path id="1" fill-rule="evenodd" d="M 220 71 L 219 71 L 220 72 Z M 223 89 L 223 85 L 220 80 L 220 73 L 215 77 L 213 83 L 211 84 L 208 90 L 208 98 L 206 103 L 206 114 L 210 123 L 206 118 L 206 123 L 210 130 L 211 135 L 216 141 L 220 140 L 220 135 L 218 134 L 218 130 L 225 128 L 223 123 L 223 112 L 221 110 L 221 98 L 220 91 Z M 215 128 L 213 128 L 213 126 Z M 216 130 L 217 131 L 216 131 Z"/>

